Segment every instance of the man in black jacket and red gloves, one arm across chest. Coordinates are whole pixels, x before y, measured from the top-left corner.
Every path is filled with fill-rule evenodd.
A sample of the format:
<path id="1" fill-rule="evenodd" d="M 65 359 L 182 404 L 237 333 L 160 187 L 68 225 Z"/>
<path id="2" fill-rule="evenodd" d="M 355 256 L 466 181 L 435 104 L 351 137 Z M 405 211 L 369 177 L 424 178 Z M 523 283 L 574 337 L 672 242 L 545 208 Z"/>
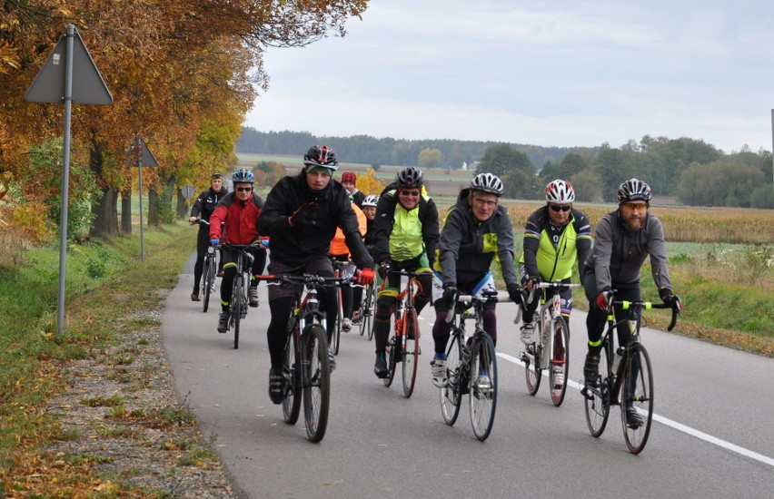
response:
<path id="1" fill-rule="evenodd" d="M 303 156 L 303 170 L 298 175 L 278 181 L 263 206 L 258 228 L 271 237 L 272 259 L 269 272 L 275 275 L 303 273 L 333 276 L 328 254 L 331 240 L 340 227 L 355 265 L 360 269 L 358 282 L 370 284 L 374 277 L 373 260 L 362 244 L 357 217 L 352 211 L 349 194 L 342 184 L 331 181 L 339 168 L 336 153 L 327 146 L 312 146 Z M 269 342 L 269 396 L 274 404 L 283 401 L 285 378 L 282 374 L 288 318 L 293 310 L 298 287 L 269 287 L 269 309 L 272 318 L 266 336 Z M 321 308 L 325 311 L 328 341 L 335 327 L 337 299 L 334 289 L 320 289 Z M 335 366 L 329 351 L 331 367 Z"/>

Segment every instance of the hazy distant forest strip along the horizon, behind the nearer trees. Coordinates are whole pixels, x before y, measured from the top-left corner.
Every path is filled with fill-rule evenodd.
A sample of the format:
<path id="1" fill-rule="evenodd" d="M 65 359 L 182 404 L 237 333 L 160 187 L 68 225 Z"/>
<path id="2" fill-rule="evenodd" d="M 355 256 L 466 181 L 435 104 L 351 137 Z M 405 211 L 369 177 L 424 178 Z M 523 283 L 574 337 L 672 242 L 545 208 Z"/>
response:
<path id="1" fill-rule="evenodd" d="M 332 147 L 339 161 L 394 166 L 415 166 L 420 152 L 438 149 L 442 153 L 443 168 L 458 170 L 462 163 L 480 161 L 484 151 L 501 142 L 454 141 L 450 139 L 426 139 L 409 141 L 405 139 L 377 139 L 368 135 L 352 137 L 316 136 L 309 132 L 258 132 L 251 127 L 242 129 L 242 136 L 236 142 L 236 152 L 259 154 L 303 155 L 313 144 Z M 546 162 L 558 163 L 569 152 L 585 152 L 596 156 L 599 147 L 543 147 L 511 143 L 513 149 L 523 152 L 531 163 L 540 170 Z"/>

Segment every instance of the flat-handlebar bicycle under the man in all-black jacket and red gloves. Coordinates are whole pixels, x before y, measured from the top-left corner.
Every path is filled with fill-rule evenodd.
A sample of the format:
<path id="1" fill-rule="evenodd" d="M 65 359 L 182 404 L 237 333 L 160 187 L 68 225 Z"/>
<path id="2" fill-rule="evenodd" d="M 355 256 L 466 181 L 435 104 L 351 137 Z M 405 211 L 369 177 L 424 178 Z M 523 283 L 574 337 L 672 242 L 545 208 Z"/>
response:
<path id="1" fill-rule="evenodd" d="M 320 442 L 328 426 L 331 401 L 331 365 L 328 357 L 328 334 L 325 312 L 320 309 L 317 289 L 321 286 L 348 282 L 348 278 L 303 276 L 258 276 L 269 285 L 298 286 L 305 293 L 296 296 L 288 320 L 288 338 L 284 349 L 283 419 L 295 425 L 301 412 L 306 421 L 306 435 L 312 442 Z M 303 296 L 302 296 L 303 295 Z"/>

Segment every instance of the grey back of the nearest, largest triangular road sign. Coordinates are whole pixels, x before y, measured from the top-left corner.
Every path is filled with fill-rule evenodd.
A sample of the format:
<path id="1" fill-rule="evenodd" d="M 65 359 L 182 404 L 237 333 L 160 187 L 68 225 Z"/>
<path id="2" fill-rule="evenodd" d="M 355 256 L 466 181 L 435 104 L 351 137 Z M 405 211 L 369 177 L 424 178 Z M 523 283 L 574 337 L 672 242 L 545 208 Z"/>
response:
<path id="1" fill-rule="evenodd" d="M 81 35 L 74 30 L 73 36 L 73 103 L 109 104 L 113 95 L 107 90 L 102 74 L 94 64 Z M 35 76 L 25 99 L 30 103 L 64 103 L 65 70 L 67 59 L 67 34 L 54 47 L 48 60 Z"/>

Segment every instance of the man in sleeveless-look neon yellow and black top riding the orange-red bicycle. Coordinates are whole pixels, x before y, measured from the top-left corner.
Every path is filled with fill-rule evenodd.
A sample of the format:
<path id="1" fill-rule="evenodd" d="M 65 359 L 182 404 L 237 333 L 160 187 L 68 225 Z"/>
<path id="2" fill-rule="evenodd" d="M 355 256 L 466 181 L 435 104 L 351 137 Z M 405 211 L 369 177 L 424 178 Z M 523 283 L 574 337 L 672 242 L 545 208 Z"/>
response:
<path id="1" fill-rule="evenodd" d="M 401 275 L 390 270 L 421 272 L 420 288 L 416 295 L 417 314 L 431 298 L 432 270 L 435 247 L 438 244 L 438 210 L 435 202 L 422 196 L 424 173 L 409 167 L 398 172 L 397 180 L 383 192 L 376 206 L 373 220 L 374 253 L 380 262 L 379 283 L 386 286 L 376 298 L 373 335 L 376 342 L 376 362 L 373 372 L 387 377 L 385 349 L 390 336 L 390 316 L 395 308 Z M 412 334 L 412 331 L 409 331 Z"/>

